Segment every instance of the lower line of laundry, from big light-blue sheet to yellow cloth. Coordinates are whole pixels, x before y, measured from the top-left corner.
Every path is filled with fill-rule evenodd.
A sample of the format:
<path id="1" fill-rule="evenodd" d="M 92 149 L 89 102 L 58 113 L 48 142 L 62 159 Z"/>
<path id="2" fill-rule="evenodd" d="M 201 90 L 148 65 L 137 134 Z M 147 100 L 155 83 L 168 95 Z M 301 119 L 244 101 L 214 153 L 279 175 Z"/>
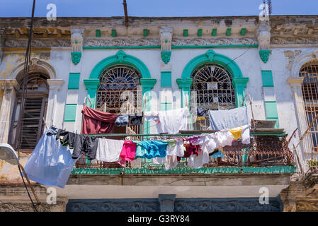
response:
<path id="1" fill-rule="evenodd" d="M 176 167 L 181 157 L 188 157 L 188 167 L 200 168 L 209 162 L 210 153 L 211 157 L 224 156 L 220 150 L 215 153 L 216 148 L 232 145 L 237 138 L 242 143 L 249 143 L 250 127 L 247 124 L 239 129 L 163 141 L 123 141 L 72 133 L 51 126 L 35 147 L 25 165 L 25 172 L 35 182 L 63 188 L 81 155 L 91 160 L 117 162 L 123 167 L 126 161 L 148 158 L 164 164 L 166 170 Z"/>

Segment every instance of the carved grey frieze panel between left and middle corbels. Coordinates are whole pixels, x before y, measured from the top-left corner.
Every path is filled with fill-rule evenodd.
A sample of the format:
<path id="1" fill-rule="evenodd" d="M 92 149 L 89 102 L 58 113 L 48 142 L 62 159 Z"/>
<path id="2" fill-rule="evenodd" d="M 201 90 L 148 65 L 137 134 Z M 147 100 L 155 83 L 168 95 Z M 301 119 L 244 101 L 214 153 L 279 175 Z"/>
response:
<path id="1" fill-rule="evenodd" d="M 159 39 L 113 39 L 113 40 L 100 40 L 89 39 L 84 41 L 85 47 L 125 47 L 125 46 L 147 46 L 147 45 L 160 45 Z"/>

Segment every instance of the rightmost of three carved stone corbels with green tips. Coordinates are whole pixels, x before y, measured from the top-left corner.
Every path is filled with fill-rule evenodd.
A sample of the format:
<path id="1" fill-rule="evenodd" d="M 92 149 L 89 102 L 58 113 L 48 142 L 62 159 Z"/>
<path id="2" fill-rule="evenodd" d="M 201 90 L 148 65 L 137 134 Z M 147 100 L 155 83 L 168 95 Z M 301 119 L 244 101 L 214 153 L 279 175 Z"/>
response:
<path id="1" fill-rule="evenodd" d="M 271 25 L 265 20 L 261 20 L 257 30 L 257 40 L 259 41 L 259 57 L 266 63 L 271 53 Z"/>

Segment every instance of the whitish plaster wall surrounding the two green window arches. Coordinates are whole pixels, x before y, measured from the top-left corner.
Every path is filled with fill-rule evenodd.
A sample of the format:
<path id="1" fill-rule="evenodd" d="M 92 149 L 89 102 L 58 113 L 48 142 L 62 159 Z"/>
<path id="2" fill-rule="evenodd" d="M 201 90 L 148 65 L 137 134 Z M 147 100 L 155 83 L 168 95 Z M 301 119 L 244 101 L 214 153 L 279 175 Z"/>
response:
<path id="1" fill-rule="evenodd" d="M 73 100 L 74 97 L 67 97 L 67 85 L 69 79 L 69 72 L 80 72 L 79 93 L 77 98 L 77 113 L 76 123 L 74 125 L 74 131 L 81 130 L 81 108 L 84 101 L 84 97 L 87 95 L 87 91 L 83 80 L 88 79 L 89 75 L 96 64 L 99 61 L 110 57 L 119 49 L 85 49 L 81 63 L 78 66 L 73 66 L 71 54 L 69 50 L 52 50 L 50 64 L 55 68 L 57 72 L 57 78 L 64 79 L 64 85 L 62 90 L 58 93 L 58 115 L 55 124 L 57 126 L 63 126 L 64 119 L 64 105 L 66 100 Z M 172 65 L 172 93 L 179 93 L 181 96 L 181 90 L 176 84 L 176 78 L 181 78 L 182 72 L 186 64 L 191 59 L 197 57 L 200 54 L 205 54 L 208 49 L 173 49 L 171 54 Z M 290 76 L 290 72 L 287 69 L 289 64 L 288 59 L 285 57 L 284 52 L 288 50 L 272 49 L 269 61 L 266 64 L 260 63 L 259 50 L 256 48 L 239 48 L 239 49 L 213 49 L 217 54 L 224 54 L 225 56 L 235 59 L 244 77 L 249 77 L 249 82 L 246 87 L 246 94 L 250 94 L 253 100 L 253 110 L 255 119 L 266 119 L 265 106 L 263 101 L 263 88 L 261 79 L 261 69 L 268 68 L 273 71 L 274 90 L 277 101 L 278 117 L 280 122 L 280 128 L 284 128 L 288 134 L 293 133 L 297 127 L 295 109 L 293 103 L 293 97 L 286 79 Z M 290 50 L 295 50 L 290 49 Z M 304 50 L 304 49 L 302 49 Z M 154 85 L 153 91 L 157 94 L 159 100 L 159 92 L 164 90 L 160 86 L 161 76 L 161 57 L 159 49 L 124 49 L 126 54 L 130 54 L 140 59 L 149 69 L 152 78 L 157 79 L 157 83 Z M 242 55 L 242 56 L 240 56 Z M 240 56 L 240 57 L 239 57 Z M 263 65 L 261 65 L 263 64 Z M 69 93 L 71 95 L 71 93 Z M 74 94 L 72 94 L 74 95 Z M 179 99 L 179 98 L 177 98 Z M 151 102 L 152 109 L 160 109 L 160 100 L 156 103 L 154 99 Z M 156 107 L 155 107 L 156 106 Z M 176 100 L 174 108 L 181 106 L 181 100 Z M 154 124 L 152 124 L 154 125 Z M 73 127 L 72 127 L 73 128 Z M 152 126 L 151 132 L 155 132 L 155 126 Z"/>

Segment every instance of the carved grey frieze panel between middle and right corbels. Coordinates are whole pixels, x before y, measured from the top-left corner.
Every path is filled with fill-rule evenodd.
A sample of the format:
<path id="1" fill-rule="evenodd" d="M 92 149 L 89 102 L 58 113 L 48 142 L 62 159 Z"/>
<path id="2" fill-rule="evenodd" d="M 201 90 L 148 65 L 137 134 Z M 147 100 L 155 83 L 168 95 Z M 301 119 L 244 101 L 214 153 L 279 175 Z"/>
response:
<path id="1" fill-rule="evenodd" d="M 223 44 L 256 44 L 256 40 L 251 37 L 242 38 L 195 38 L 195 39 L 184 39 L 184 38 L 173 38 L 172 45 L 223 45 Z"/>

